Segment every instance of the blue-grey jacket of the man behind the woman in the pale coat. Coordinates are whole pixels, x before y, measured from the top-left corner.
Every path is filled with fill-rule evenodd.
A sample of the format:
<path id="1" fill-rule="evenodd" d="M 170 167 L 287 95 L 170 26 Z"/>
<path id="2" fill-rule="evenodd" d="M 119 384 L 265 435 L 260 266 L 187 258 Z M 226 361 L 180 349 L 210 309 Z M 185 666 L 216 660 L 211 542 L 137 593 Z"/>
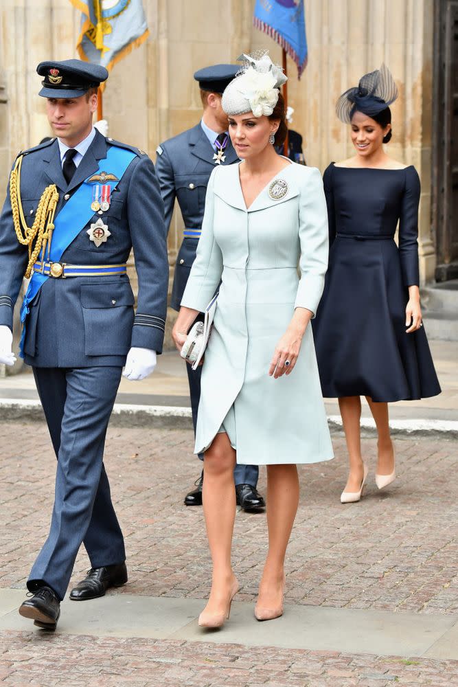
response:
<path id="1" fill-rule="evenodd" d="M 211 172 L 215 168 L 214 149 L 199 122 L 196 126 L 168 139 L 157 148 L 156 172 L 165 207 L 165 226 L 170 228 L 175 198 L 178 200 L 185 229 L 201 229 L 205 210 L 205 194 Z M 222 166 L 238 162 L 229 139 Z M 196 258 L 198 240 L 183 238 L 176 258 L 172 300 L 179 310 L 181 298 Z"/>

